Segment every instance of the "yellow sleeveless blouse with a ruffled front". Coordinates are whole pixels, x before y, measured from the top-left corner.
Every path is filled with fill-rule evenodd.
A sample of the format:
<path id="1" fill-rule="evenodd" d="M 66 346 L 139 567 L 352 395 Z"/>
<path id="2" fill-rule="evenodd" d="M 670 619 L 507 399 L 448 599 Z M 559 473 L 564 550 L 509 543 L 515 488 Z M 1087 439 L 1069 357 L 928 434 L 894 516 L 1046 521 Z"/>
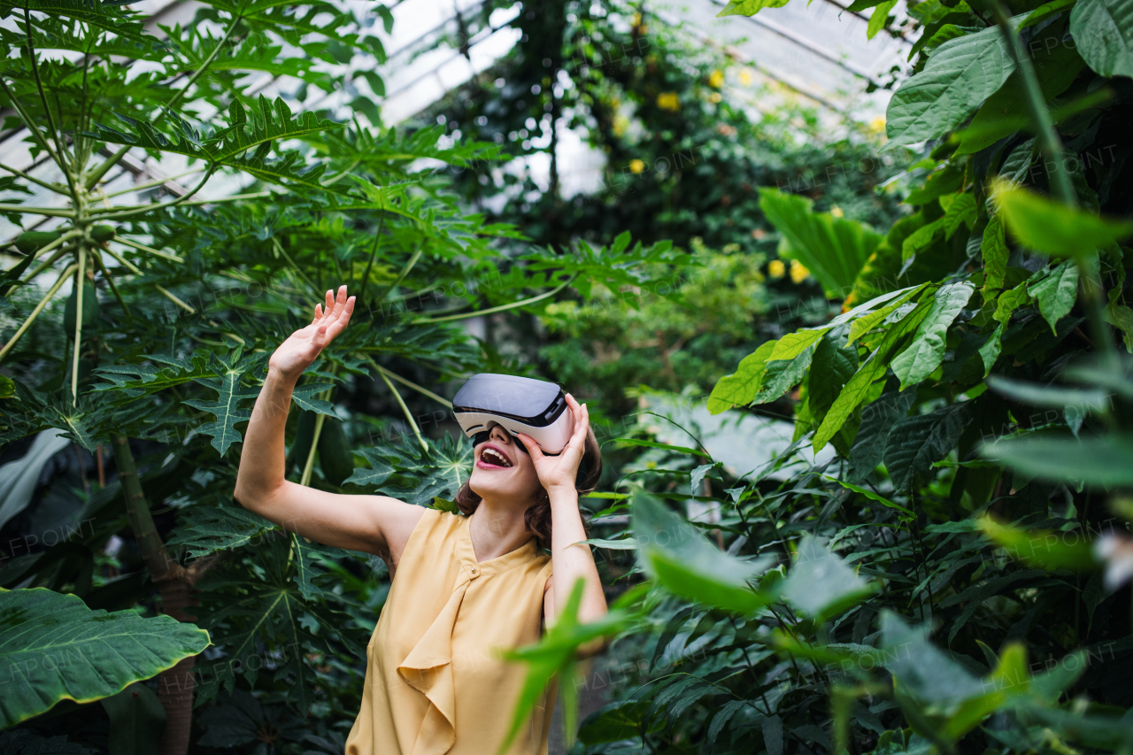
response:
<path id="1" fill-rule="evenodd" d="M 477 562 L 469 517 L 426 509 L 366 646 L 361 710 L 346 755 L 495 755 L 527 664 L 496 648 L 542 636 L 551 557 L 527 541 Z M 546 755 L 556 686 L 509 755 Z"/>

